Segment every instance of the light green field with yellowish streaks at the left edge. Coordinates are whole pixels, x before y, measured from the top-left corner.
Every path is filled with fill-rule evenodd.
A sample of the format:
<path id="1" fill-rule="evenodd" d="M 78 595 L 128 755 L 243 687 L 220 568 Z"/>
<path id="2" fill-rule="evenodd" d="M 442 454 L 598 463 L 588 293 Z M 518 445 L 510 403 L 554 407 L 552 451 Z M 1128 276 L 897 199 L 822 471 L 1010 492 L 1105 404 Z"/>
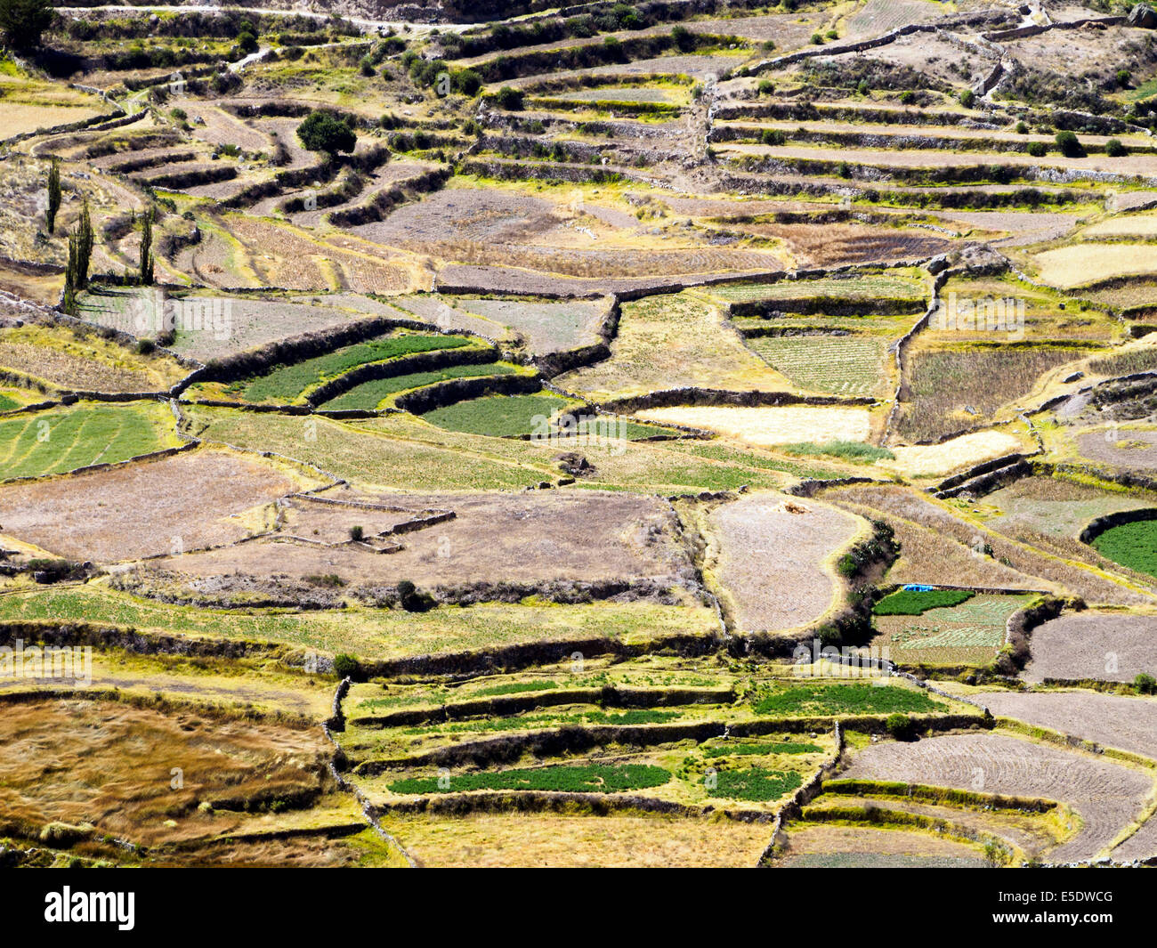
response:
<path id="1" fill-rule="evenodd" d="M 0 421 L 0 478 L 62 473 L 175 447 L 169 409 L 156 402 L 83 403 Z"/>

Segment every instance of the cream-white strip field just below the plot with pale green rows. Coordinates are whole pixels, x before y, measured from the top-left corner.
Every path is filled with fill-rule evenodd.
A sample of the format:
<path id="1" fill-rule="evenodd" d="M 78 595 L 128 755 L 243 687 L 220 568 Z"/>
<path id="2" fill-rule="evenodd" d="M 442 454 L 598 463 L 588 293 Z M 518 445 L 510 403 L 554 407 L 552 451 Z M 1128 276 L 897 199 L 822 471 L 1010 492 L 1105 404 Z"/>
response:
<path id="1" fill-rule="evenodd" d="M 871 433 L 871 417 L 867 409 L 700 405 L 647 409 L 638 414 L 649 421 L 718 432 L 760 448 L 799 441 L 817 444 L 827 441 L 865 441 Z"/>

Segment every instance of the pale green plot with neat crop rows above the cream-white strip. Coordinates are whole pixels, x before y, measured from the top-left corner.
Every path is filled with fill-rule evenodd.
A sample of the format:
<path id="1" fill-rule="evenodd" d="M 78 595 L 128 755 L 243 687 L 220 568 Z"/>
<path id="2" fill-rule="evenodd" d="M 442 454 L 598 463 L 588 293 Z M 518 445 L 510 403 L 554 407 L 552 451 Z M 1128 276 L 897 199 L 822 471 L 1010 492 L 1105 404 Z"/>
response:
<path id="1" fill-rule="evenodd" d="M 887 343 L 875 337 L 760 336 L 747 340 L 772 368 L 804 389 L 874 395 L 886 385 Z"/>

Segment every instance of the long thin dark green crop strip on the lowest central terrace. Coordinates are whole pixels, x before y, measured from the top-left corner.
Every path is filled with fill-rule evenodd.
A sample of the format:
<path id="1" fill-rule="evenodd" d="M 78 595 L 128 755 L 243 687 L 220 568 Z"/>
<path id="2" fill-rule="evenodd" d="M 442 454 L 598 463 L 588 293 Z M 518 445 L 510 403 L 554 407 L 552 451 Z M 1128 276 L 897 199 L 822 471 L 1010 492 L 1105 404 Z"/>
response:
<path id="1" fill-rule="evenodd" d="M 557 764 L 494 773 L 463 773 L 441 779 L 441 784 L 437 777 L 410 777 L 389 786 L 395 793 L 463 793 L 478 789 L 620 793 L 661 787 L 670 780 L 669 771 L 649 764 Z"/>

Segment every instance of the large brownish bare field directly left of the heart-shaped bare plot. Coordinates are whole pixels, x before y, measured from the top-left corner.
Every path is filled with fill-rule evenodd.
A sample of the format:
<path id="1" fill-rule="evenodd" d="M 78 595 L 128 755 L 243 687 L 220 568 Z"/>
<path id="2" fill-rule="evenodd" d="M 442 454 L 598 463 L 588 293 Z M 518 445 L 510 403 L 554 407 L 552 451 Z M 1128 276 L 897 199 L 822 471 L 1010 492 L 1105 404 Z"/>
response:
<path id="1" fill-rule="evenodd" d="M 334 492 L 325 497 L 355 498 Z M 382 509 L 331 510 L 329 505 L 294 501 L 290 522 L 278 538 L 167 557 L 153 565 L 205 580 L 193 581 L 194 588 L 223 591 L 233 574 L 336 574 L 371 597 L 370 587 L 392 589 L 403 579 L 447 594 L 489 585 L 495 596 L 501 583 L 543 587 L 546 593 L 552 583 L 653 581 L 665 590 L 693 582 L 675 514 L 657 498 L 551 491 L 381 494 L 362 500 Z M 389 532 L 399 519 L 442 512 L 455 516 L 400 535 Z M 347 542 L 354 526 L 363 528 L 366 544 Z M 340 545 L 323 545 L 327 543 Z"/>

